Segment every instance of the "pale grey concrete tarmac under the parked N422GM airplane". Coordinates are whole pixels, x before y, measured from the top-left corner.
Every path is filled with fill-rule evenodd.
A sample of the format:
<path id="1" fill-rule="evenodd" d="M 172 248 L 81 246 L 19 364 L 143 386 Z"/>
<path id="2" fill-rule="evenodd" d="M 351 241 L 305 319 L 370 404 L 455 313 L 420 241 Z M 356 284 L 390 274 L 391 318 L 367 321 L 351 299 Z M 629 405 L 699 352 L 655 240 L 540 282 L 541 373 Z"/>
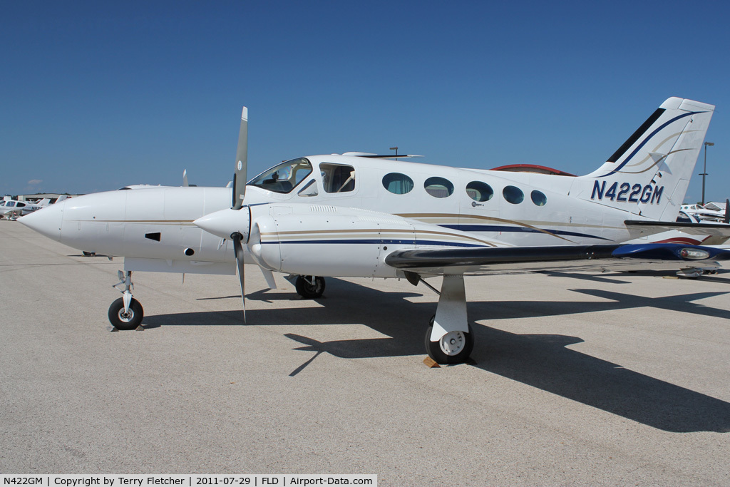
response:
<path id="1" fill-rule="evenodd" d="M 0 221 L 0 472 L 367 473 L 380 486 L 730 484 L 730 273 L 469 277 L 474 364 L 429 369 L 437 297 L 134 274 Z M 434 284 L 438 283 L 434 280 Z"/>

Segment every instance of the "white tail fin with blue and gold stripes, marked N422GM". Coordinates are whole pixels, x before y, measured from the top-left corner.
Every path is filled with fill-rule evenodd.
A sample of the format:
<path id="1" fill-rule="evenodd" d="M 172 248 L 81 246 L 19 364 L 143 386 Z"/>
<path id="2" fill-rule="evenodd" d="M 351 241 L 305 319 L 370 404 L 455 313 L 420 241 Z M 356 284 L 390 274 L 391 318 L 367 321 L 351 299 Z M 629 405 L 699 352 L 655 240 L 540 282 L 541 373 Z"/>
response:
<path id="1" fill-rule="evenodd" d="M 605 164 L 575 178 L 570 193 L 652 220 L 675 220 L 714 110 L 667 99 Z"/>

